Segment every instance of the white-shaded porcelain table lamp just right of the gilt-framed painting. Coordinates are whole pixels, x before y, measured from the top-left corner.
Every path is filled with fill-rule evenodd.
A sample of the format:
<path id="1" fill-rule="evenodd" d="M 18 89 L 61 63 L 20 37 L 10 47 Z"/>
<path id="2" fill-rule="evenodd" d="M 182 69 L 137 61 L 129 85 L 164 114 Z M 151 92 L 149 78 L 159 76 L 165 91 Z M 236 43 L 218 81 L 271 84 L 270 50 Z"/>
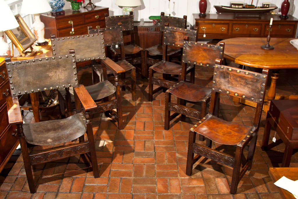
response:
<path id="1" fill-rule="evenodd" d="M 37 39 L 36 46 L 48 44 L 44 39 L 44 23 L 40 21 L 39 14 L 51 11 L 52 8 L 47 0 L 23 0 L 21 13 L 34 14 L 33 32 Z"/>

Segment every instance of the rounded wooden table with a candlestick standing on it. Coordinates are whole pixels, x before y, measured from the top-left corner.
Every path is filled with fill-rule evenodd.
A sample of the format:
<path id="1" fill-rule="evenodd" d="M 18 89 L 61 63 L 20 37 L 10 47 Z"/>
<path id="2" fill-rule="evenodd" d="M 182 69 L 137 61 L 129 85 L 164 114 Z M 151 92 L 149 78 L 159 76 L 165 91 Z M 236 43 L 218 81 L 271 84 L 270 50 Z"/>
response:
<path id="1" fill-rule="evenodd" d="M 225 42 L 224 58 L 245 66 L 273 70 L 271 85 L 267 94 L 268 100 L 266 106 L 264 106 L 266 112 L 269 109 L 270 101 L 276 95 L 278 70 L 298 68 L 298 50 L 290 44 L 292 39 L 295 38 L 271 38 L 269 44 L 274 47 L 273 50 L 261 48 L 261 45 L 267 43 L 266 38 L 240 37 L 221 41 Z M 241 102 L 254 105 L 245 100 L 241 100 Z"/>

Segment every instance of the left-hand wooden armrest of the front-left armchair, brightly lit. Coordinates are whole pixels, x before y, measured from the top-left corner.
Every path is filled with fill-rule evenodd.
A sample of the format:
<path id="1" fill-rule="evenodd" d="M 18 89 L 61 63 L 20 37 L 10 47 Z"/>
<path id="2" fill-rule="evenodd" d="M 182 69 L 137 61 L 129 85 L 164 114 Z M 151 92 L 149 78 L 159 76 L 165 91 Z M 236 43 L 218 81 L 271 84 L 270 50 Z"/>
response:
<path id="1" fill-rule="evenodd" d="M 6 103 L 9 124 L 23 124 L 18 97 L 7 96 Z"/>

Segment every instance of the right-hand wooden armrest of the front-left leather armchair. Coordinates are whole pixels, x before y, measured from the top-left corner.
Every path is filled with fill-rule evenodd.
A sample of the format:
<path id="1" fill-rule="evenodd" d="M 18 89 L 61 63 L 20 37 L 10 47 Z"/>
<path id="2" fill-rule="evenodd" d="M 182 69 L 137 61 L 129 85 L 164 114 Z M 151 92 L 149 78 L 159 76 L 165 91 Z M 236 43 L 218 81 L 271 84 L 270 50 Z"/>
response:
<path id="1" fill-rule="evenodd" d="M 76 92 L 80 99 L 84 111 L 89 111 L 97 107 L 84 85 L 80 84 L 78 87 L 74 87 L 74 92 Z"/>

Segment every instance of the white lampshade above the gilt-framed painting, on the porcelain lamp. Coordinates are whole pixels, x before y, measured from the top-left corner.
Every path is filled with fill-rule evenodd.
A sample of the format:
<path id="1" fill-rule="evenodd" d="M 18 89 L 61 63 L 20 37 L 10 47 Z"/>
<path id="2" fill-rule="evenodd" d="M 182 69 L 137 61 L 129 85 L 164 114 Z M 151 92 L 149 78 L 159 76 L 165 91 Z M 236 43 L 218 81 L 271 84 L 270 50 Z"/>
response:
<path id="1" fill-rule="evenodd" d="M 21 13 L 40 14 L 51 10 L 52 8 L 47 0 L 23 0 Z"/>

